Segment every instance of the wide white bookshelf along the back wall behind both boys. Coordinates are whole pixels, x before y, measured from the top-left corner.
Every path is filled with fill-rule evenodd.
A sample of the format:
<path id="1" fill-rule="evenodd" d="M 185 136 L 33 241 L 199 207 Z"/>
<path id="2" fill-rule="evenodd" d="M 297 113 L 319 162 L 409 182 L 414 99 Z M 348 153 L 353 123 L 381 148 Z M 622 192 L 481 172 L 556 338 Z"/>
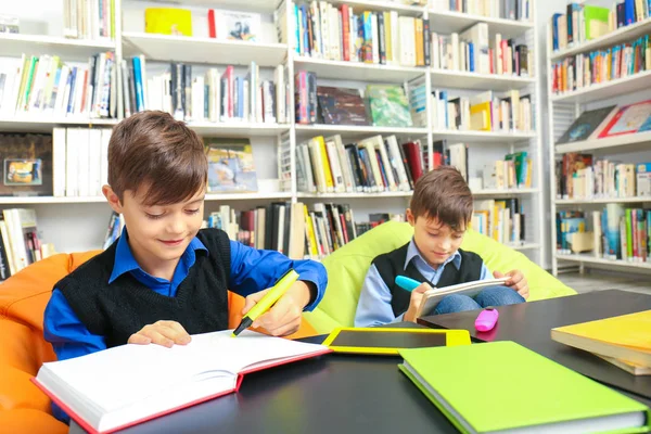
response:
<path id="1" fill-rule="evenodd" d="M 44 0 L 41 0 L 44 1 Z M 23 52 L 26 54 L 39 55 L 42 53 L 54 53 L 61 55 L 62 60 L 87 61 L 88 56 L 98 52 L 115 50 L 116 61 L 128 59 L 132 55 L 143 54 L 148 61 L 148 75 L 151 76 L 152 69 L 161 67 L 168 62 L 181 62 L 189 64 L 208 65 L 234 65 L 246 67 L 252 61 L 255 61 L 260 68 L 272 69 L 278 65 L 284 65 L 289 73 L 289 87 L 293 101 L 294 93 L 294 73 L 297 71 L 308 71 L 317 74 L 319 82 L 327 81 L 328 86 L 332 81 L 355 84 L 352 87 L 363 88 L 367 84 L 397 84 L 404 85 L 414 79 L 423 80 L 426 84 L 427 92 L 433 89 L 465 89 L 472 92 L 482 90 L 505 91 L 509 89 L 528 90 L 536 101 L 535 107 L 538 111 L 535 115 L 539 118 L 539 94 L 538 84 L 540 74 L 534 77 L 516 77 L 501 75 L 486 75 L 464 72 L 450 72 L 433 69 L 431 67 L 406 67 L 398 65 L 378 65 L 361 62 L 334 62 L 321 59 L 311 59 L 298 56 L 294 49 L 286 43 L 276 42 L 276 29 L 269 31 L 269 23 L 265 20 L 273 15 L 273 12 L 282 3 L 279 0 L 191 0 L 177 2 L 171 7 L 189 7 L 194 13 L 201 9 L 204 13 L 209 8 L 231 9 L 241 11 L 258 12 L 267 15 L 263 25 L 267 26 L 267 36 L 272 34 L 271 39 L 264 38 L 258 42 L 244 42 L 232 40 L 216 40 L 208 38 L 202 31 L 195 31 L 193 37 L 176 37 L 164 35 L 152 35 L 143 31 L 143 17 L 138 18 L 141 27 L 132 25 L 133 16 L 126 20 L 126 14 L 133 14 L 136 10 L 141 11 L 145 7 L 152 7 L 155 2 L 143 2 L 140 0 L 115 0 L 116 16 L 116 39 L 108 40 L 75 40 L 59 36 L 43 35 L 0 35 L 0 56 L 20 56 Z M 538 47 L 535 20 L 532 22 L 518 22 L 502 18 L 492 18 L 486 16 L 471 15 L 458 12 L 442 12 L 433 10 L 433 5 L 413 7 L 405 5 L 394 1 L 375 0 L 330 0 L 333 4 L 347 3 L 355 8 L 355 11 L 397 11 L 400 15 L 422 16 L 430 20 L 430 30 L 438 34 L 448 34 L 451 31 L 462 31 L 465 28 L 480 23 L 488 23 L 490 35 L 500 33 L 506 38 L 525 38 L 529 47 Z M 291 3 L 283 5 L 288 16 L 291 16 Z M 118 15 L 119 14 L 119 15 Z M 202 18 L 204 20 L 203 15 Z M 195 23 L 193 23 L 194 26 Z M 123 28 L 124 25 L 124 28 Z M 288 34 L 291 35 L 291 31 Z M 540 72 L 537 65 L 537 58 L 533 56 L 534 71 Z M 150 63 L 151 62 L 151 63 Z M 268 71 L 269 72 L 269 71 Z M 118 74 L 118 88 L 122 86 L 122 74 Z M 118 92 L 118 104 L 122 104 L 122 92 Z M 333 126 L 333 125 L 298 125 L 293 122 L 293 103 L 288 107 L 290 124 L 252 124 L 246 122 L 189 122 L 188 126 L 201 136 L 217 137 L 237 137 L 250 138 L 254 148 L 254 159 L 258 169 L 258 181 L 260 178 L 271 180 L 277 184 L 283 184 L 286 190 L 279 192 L 259 193 L 240 193 L 240 194 L 212 194 L 206 195 L 206 210 L 216 210 L 221 204 L 242 204 L 242 206 L 264 205 L 270 201 L 306 201 L 310 204 L 318 201 L 346 202 L 357 213 L 358 220 L 365 220 L 365 212 L 385 212 L 388 208 L 404 213 L 406 204 L 412 192 L 394 191 L 382 193 L 328 193 L 310 194 L 298 192 L 296 189 L 296 162 L 295 146 L 301 141 L 315 136 L 342 135 L 346 140 L 358 140 L 375 135 L 390 136 L 396 135 L 401 139 L 421 140 L 430 149 L 432 154 L 432 144 L 436 140 L 447 139 L 448 142 L 469 142 L 475 148 L 475 153 L 470 158 L 481 158 L 481 148 L 483 144 L 497 148 L 503 148 L 502 157 L 507 153 L 514 152 L 515 149 L 525 148 L 529 151 L 529 157 L 534 159 L 534 178 L 531 189 L 514 190 L 481 190 L 473 192 L 478 199 L 490 197 L 518 197 L 528 203 L 527 212 L 527 240 L 523 243 L 510 245 L 513 248 L 523 251 L 533 258 L 541 260 L 545 257 L 544 228 L 541 225 L 541 144 L 537 132 L 485 132 L 485 131 L 438 131 L 432 128 L 432 125 L 412 128 L 391 128 L 391 127 L 358 127 L 358 126 Z M 427 107 L 430 111 L 431 107 Z M 429 112 L 430 113 L 430 112 Z M 101 126 L 112 127 L 119 119 L 90 119 L 90 118 L 0 118 L 0 130 L 2 131 L 35 131 L 48 132 L 54 127 L 87 127 Z M 539 126 L 538 126 L 539 128 Z M 289 143 L 289 154 L 283 154 L 281 143 Z M 500 149 L 501 149 L 500 148 Z M 501 151 L 500 151 L 501 152 Z M 284 162 L 284 163 L 283 163 Z M 289 164 L 290 178 L 283 177 L 281 164 Z M 273 176 L 261 176 L 260 168 L 272 173 Z M 268 174 L 266 174 L 268 175 Z M 349 202 L 347 202 L 349 201 Z M 47 241 L 53 241 L 60 251 L 69 251 L 66 244 L 61 245 L 62 237 L 53 237 L 50 240 L 52 228 L 59 225 L 84 225 L 81 233 L 93 233 L 92 245 L 85 245 L 75 241 L 71 245 L 75 250 L 97 248 L 97 241 L 103 238 L 108 220 L 108 207 L 102 196 L 92 197 L 0 197 L 0 206 L 15 207 L 29 205 L 37 208 L 40 219 L 46 219 L 44 227 L 48 233 L 44 233 Z M 65 205 L 65 206 L 62 206 Z M 239 205 L 234 205 L 235 207 Z M 74 213 L 74 214 L 72 214 Z M 43 216 L 43 217 L 41 217 Z M 71 220 L 72 218 L 72 220 Z M 74 222 L 69 222 L 74 221 Z M 71 247 L 71 248 L 73 248 Z"/>

